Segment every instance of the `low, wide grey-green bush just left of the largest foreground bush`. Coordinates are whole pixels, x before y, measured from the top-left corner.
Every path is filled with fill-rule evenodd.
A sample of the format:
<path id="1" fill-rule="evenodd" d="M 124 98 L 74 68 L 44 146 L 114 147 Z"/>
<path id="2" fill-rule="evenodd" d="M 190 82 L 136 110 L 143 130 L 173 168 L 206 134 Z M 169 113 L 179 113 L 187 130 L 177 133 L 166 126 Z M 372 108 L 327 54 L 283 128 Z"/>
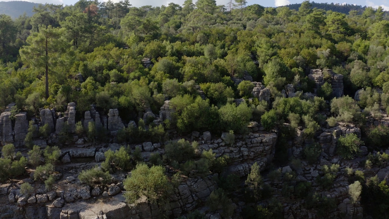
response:
<path id="1" fill-rule="evenodd" d="M 104 172 L 100 167 L 95 166 L 89 170 L 83 170 L 79 175 L 78 179 L 88 185 L 106 185 L 111 181 L 111 175 L 109 172 Z"/>

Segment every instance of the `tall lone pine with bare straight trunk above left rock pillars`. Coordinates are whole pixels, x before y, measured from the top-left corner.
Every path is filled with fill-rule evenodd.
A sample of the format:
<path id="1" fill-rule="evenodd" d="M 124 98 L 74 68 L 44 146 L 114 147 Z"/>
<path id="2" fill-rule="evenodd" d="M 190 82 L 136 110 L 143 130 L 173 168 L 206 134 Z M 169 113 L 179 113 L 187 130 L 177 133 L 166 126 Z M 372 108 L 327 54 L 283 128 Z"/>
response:
<path id="1" fill-rule="evenodd" d="M 26 40 L 28 46 L 23 46 L 19 51 L 21 60 L 25 64 L 44 72 L 46 99 L 49 98 L 49 72 L 54 71 L 60 62 L 59 56 L 65 51 L 62 35 L 63 30 L 60 28 L 40 26 L 40 32 L 30 35 Z"/>

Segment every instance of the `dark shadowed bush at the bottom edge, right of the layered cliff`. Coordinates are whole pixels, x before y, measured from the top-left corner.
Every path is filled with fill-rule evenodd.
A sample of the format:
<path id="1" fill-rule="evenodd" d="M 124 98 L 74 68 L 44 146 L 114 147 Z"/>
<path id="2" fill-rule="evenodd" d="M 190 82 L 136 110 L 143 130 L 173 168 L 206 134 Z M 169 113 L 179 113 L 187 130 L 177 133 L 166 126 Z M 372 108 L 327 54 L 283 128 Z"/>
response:
<path id="1" fill-rule="evenodd" d="M 223 218 L 230 218 L 234 214 L 235 208 L 232 205 L 232 201 L 221 188 L 212 191 L 207 200 L 207 205 L 212 212 L 219 210 L 219 214 Z"/>

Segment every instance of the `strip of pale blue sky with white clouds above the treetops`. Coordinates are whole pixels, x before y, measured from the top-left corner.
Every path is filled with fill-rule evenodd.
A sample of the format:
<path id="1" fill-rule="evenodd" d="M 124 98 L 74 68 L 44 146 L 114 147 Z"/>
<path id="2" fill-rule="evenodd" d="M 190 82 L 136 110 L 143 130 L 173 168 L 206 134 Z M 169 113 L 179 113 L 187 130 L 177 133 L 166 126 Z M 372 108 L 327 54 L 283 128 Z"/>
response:
<path id="1" fill-rule="evenodd" d="M 1 0 L 1 1 L 11 1 L 11 0 Z M 27 0 L 28 2 L 35 3 L 52 3 L 52 4 L 63 4 L 63 5 L 73 5 L 78 0 Z M 101 1 L 101 0 L 100 0 Z M 104 0 L 106 1 L 106 0 Z M 119 0 L 112 0 L 113 2 L 119 2 Z M 311 0 L 312 1 L 312 0 Z M 130 4 L 135 7 L 141 7 L 143 5 L 152 5 L 152 6 L 161 6 L 168 5 L 169 3 L 175 3 L 182 5 L 184 0 L 130 0 Z M 196 0 L 193 0 L 196 2 Z M 216 0 L 218 5 L 226 5 L 229 0 Z M 247 5 L 259 4 L 265 7 L 278 7 L 282 5 L 288 4 L 296 4 L 301 3 L 303 0 L 247 0 Z M 317 3 L 338 3 L 338 4 L 355 4 L 362 6 L 371 6 L 373 8 L 377 8 L 378 6 L 382 6 L 385 11 L 389 11 L 389 0 L 314 0 L 313 2 Z"/>

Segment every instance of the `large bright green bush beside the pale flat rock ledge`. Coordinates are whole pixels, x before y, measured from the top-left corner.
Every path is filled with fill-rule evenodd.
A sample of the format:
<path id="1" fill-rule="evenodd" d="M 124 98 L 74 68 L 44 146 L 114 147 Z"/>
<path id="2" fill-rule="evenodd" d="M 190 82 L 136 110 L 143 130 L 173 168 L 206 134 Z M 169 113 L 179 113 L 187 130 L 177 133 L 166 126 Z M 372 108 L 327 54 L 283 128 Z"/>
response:
<path id="1" fill-rule="evenodd" d="M 131 177 L 123 181 L 124 197 L 128 203 L 135 203 L 140 197 L 145 196 L 151 203 L 161 203 L 170 192 L 165 168 L 162 166 L 147 167 L 146 164 L 138 164 L 131 171 Z"/>

